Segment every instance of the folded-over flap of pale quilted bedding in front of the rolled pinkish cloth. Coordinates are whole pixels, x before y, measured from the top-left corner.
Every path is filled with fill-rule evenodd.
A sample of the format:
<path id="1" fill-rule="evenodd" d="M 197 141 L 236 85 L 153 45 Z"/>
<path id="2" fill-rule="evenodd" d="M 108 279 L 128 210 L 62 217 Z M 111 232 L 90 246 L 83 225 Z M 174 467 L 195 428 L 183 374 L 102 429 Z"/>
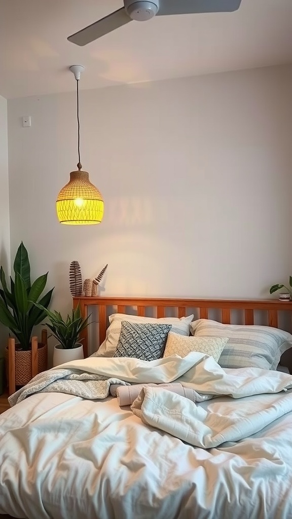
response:
<path id="1" fill-rule="evenodd" d="M 131 410 L 147 425 L 195 447 L 210 449 L 248 438 L 292 411 L 292 392 L 270 394 L 264 407 L 260 400 L 255 400 L 249 409 L 240 409 L 240 413 L 230 416 L 205 411 L 163 388 L 144 386 Z"/>

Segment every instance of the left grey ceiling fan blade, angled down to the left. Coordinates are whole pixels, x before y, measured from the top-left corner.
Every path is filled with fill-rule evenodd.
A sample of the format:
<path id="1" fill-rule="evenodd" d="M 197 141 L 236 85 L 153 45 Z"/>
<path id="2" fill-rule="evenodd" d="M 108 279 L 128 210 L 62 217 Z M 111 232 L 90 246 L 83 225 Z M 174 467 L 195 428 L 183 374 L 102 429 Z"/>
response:
<path id="1" fill-rule="evenodd" d="M 95 39 L 108 34 L 115 29 L 118 29 L 125 23 L 131 22 L 130 17 L 126 13 L 126 9 L 122 7 L 117 11 L 112 12 L 110 15 L 101 18 L 95 23 L 91 23 L 88 27 L 81 29 L 81 31 L 72 34 L 67 39 L 69 42 L 75 43 L 76 45 L 87 45 L 93 42 Z"/>

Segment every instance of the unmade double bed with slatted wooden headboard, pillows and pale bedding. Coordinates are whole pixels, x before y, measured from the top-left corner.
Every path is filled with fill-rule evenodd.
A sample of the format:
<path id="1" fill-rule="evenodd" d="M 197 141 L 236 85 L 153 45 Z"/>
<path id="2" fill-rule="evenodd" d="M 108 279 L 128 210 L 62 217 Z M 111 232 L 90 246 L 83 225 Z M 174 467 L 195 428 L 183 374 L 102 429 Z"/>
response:
<path id="1" fill-rule="evenodd" d="M 0 415 L 0 517 L 290 519 L 291 303 L 77 304 L 98 321 L 84 361 L 38 375 Z M 123 356 L 137 334 L 140 357 Z"/>

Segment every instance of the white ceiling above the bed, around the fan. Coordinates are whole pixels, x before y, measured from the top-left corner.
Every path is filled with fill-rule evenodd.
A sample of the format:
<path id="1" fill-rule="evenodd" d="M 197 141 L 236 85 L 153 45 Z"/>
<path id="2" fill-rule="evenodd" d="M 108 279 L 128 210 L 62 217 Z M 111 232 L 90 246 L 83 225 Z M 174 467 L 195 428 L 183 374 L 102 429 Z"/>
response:
<path id="1" fill-rule="evenodd" d="M 179 0 L 178 0 L 179 1 Z M 242 0 L 238 11 L 131 22 L 77 47 L 67 36 L 123 0 L 0 0 L 0 94 L 82 88 L 292 63 L 292 0 Z"/>

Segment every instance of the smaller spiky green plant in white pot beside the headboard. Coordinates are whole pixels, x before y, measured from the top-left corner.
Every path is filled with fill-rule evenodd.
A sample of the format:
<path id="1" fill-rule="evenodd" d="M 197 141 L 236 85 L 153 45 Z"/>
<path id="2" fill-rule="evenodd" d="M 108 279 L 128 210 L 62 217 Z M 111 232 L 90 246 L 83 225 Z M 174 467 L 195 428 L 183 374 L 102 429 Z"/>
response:
<path id="1" fill-rule="evenodd" d="M 54 348 L 53 366 L 59 366 L 64 362 L 72 360 L 84 359 L 83 345 L 81 341 L 81 333 L 88 326 L 88 319 L 81 315 L 79 305 L 72 309 L 71 314 L 63 319 L 60 312 L 43 308 L 40 304 L 36 304 L 39 309 L 46 312 L 49 322 L 45 323 L 51 331 L 52 336 L 58 340 Z"/>

